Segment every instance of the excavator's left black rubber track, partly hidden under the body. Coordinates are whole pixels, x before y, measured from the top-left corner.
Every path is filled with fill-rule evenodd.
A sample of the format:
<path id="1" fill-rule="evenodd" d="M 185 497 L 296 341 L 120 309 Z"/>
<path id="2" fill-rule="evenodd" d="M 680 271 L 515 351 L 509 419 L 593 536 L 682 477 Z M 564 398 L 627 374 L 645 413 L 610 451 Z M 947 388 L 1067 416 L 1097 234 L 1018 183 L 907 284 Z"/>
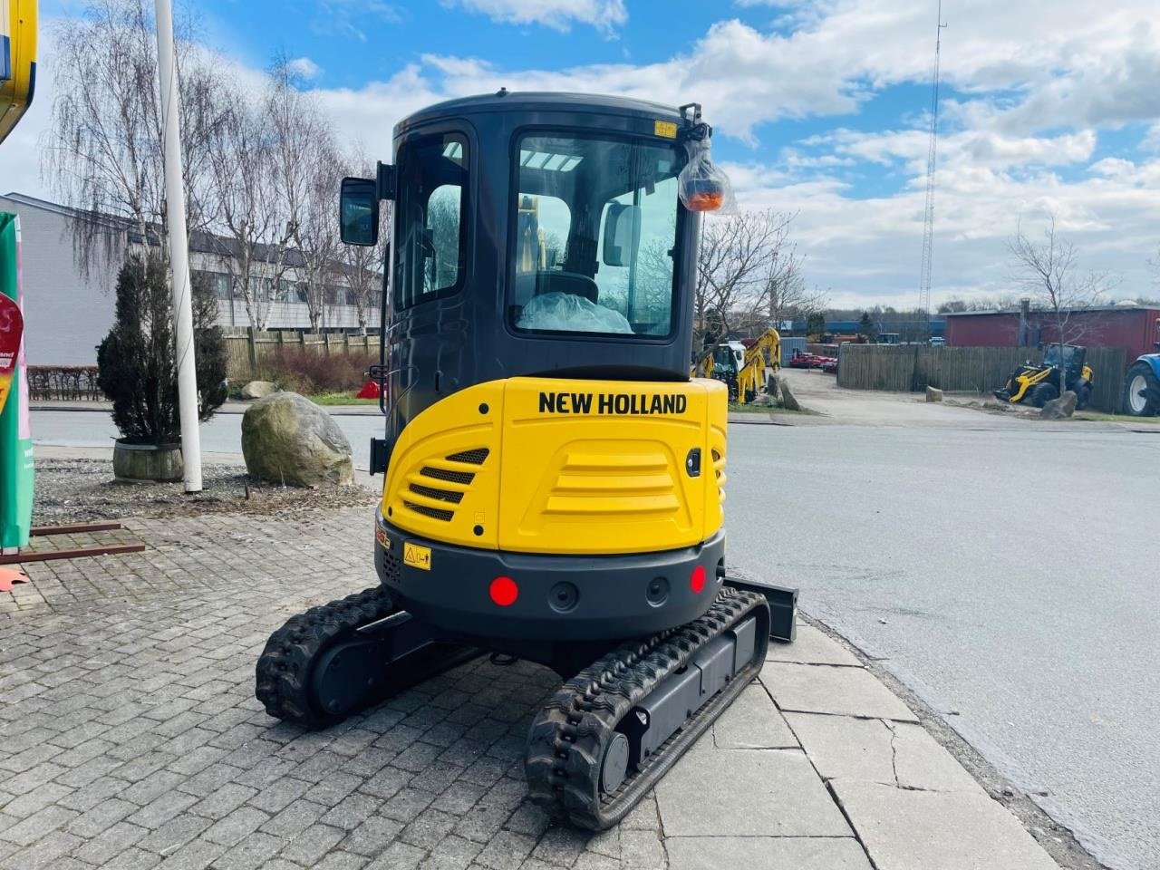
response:
<path id="1" fill-rule="evenodd" d="M 291 616 L 270 635 L 258 659 L 254 694 L 266 712 L 312 728 L 346 718 L 349 713 L 326 713 L 310 703 L 313 665 L 331 644 L 398 610 L 386 589 L 378 586 Z"/>

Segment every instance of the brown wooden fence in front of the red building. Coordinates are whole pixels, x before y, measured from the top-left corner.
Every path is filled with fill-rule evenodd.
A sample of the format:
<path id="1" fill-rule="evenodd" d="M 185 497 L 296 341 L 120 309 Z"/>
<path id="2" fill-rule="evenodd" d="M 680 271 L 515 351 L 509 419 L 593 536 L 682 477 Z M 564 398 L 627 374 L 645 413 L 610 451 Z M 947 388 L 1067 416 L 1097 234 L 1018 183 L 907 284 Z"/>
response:
<path id="1" fill-rule="evenodd" d="M 1007 383 L 1015 368 L 1043 354 L 1020 347 L 928 347 L 926 345 L 842 345 L 838 385 L 851 390 L 922 392 L 935 386 L 949 392 L 988 394 Z M 1123 348 L 1089 348 L 1094 411 L 1117 413 L 1128 364 Z"/>

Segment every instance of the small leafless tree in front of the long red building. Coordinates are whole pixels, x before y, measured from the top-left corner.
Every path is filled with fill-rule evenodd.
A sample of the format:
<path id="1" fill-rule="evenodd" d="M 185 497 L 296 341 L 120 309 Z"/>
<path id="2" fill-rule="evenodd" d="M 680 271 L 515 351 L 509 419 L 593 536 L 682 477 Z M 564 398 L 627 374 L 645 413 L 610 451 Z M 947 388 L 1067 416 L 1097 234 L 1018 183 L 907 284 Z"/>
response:
<path id="1" fill-rule="evenodd" d="M 1059 347 L 1060 362 L 1064 346 L 1083 339 L 1092 328 L 1089 319 L 1073 318 L 1082 309 L 1097 305 L 1114 285 L 1105 273 L 1080 273 L 1075 246 L 1056 231 L 1056 216 L 1049 213 L 1043 240 L 1034 241 L 1018 227 L 1007 240 L 1013 273 L 1031 306 L 1046 318 Z"/>

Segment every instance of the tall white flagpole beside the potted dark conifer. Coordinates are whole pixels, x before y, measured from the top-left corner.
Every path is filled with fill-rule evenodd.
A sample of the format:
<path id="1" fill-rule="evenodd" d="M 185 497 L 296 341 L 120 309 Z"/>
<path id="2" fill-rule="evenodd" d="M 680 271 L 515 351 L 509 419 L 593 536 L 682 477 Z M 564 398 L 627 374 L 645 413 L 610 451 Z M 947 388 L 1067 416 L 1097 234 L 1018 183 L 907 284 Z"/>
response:
<path id="1" fill-rule="evenodd" d="M 177 350 L 177 409 L 181 415 L 181 457 L 186 492 L 202 491 L 202 442 L 197 428 L 197 374 L 194 365 L 194 311 L 189 281 L 189 237 L 186 231 L 186 191 L 181 181 L 181 125 L 177 70 L 173 46 L 173 7 L 154 0 L 157 61 L 161 78 L 161 118 L 165 144 L 165 202 L 169 227 L 169 266 L 173 280 L 173 322 Z"/>

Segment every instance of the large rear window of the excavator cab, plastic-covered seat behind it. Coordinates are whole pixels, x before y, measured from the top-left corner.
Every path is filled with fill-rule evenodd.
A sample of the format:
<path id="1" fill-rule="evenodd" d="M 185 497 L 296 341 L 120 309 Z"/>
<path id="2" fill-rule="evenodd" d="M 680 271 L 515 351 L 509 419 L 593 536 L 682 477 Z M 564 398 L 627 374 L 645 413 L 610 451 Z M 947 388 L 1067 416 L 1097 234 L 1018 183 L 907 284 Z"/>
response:
<path id="1" fill-rule="evenodd" d="M 508 314 L 520 331 L 667 338 L 677 150 L 599 136 L 517 140 Z"/>

